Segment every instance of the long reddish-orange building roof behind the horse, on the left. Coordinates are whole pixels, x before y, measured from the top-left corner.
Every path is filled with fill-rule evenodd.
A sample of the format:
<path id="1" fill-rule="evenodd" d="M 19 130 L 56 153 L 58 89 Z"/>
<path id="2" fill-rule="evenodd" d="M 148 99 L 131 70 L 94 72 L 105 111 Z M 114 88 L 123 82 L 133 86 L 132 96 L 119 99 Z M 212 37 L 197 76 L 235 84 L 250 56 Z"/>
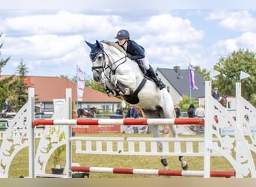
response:
<path id="1" fill-rule="evenodd" d="M 4 76 L 1 76 L 3 78 Z M 72 100 L 76 101 L 76 84 L 61 77 L 51 76 L 27 76 L 25 82 L 29 87 L 34 88 L 35 98 L 41 102 L 52 102 L 52 99 L 65 99 L 66 88 L 72 89 Z M 95 91 L 91 88 L 84 88 L 83 102 L 121 102 L 106 93 Z"/>

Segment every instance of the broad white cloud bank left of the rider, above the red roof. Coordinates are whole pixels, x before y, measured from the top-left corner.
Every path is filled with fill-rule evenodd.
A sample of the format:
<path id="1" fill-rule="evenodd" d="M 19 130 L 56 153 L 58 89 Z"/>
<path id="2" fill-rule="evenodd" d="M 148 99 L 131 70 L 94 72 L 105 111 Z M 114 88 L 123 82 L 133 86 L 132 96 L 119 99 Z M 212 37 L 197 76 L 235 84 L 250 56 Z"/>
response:
<path id="1" fill-rule="evenodd" d="M 76 70 L 76 64 L 90 67 L 91 61 L 87 58 L 89 51 L 85 48 L 84 40 L 109 37 L 114 32 L 109 28 L 113 28 L 118 19 L 118 16 L 89 15 L 66 10 L 46 10 L 44 14 L 41 11 L 31 13 L 18 10 L 0 21 L 1 27 L 4 28 L 0 38 L 4 43 L 1 55 L 11 57 L 8 62 L 11 67 L 9 64 L 9 70 L 3 70 L 3 73 L 15 73 L 15 67 L 21 59 L 28 67 L 30 75 L 60 75 L 70 71 L 70 68 L 66 68 L 65 71 L 54 72 L 56 69 L 48 68 L 47 64 L 52 67 L 61 64 L 62 67 L 58 67 L 58 70 L 64 66 L 72 66 L 73 70 Z M 98 38 L 99 36 L 102 38 Z M 46 67 L 45 73 L 43 67 Z"/>

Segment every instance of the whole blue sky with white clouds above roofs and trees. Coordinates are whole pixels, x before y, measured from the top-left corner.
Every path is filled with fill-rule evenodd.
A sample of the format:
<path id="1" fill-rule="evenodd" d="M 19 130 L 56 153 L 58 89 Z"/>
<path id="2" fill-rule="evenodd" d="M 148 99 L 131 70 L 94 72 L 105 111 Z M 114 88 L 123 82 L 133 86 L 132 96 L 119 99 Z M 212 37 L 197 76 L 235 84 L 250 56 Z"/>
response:
<path id="1" fill-rule="evenodd" d="M 201 3 L 203 2 L 203 4 Z M 154 70 L 210 70 L 239 49 L 256 52 L 255 4 L 245 1 L 15 1 L 0 0 L 0 59 L 10 57 L 1 75 L 91 77 L 85 40 L 115 41 L 120 29 L 144 47 Z"/>

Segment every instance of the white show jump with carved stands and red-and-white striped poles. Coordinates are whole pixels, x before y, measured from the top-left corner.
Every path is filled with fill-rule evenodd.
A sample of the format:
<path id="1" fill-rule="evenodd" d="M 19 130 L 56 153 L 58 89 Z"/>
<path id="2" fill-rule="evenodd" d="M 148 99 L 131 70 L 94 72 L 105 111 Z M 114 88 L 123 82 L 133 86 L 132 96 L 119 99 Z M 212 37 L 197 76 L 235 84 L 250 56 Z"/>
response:
<path id="1" fill-rule="evenodd" d="M 237 88 L 237 86 L 239 88 Z M 66 102 L 64 103 L 63 107 L 54 114 L 52 120 L 35 120 L 34 119 L 34 89 L 28 89 L 28 102 L 21 108 L 18 112 L 16 117 L 13 119 L 13 123 L 10 124 L 10 132 L 7 129 L 7 135 L 4 137 L 4 140 L 1 144 L 0 149 L 0 177 L 8 177 L 8 170 L 10 167 L 10 162 L 12 161 L 13 157 L 16 153 L 19 152 L 24 147 L 28 147 L 29 150 L 29 177 L 34 178 L 40 176 L 40 174 L 45 174 L 46 164 L 48 162 L 49 156 L 54 152 L 57 147 L 61 146 L 62 144 L 66 144 L 66 174 L 59 175 L 57 177 L 70 177 L 71 171 L 90 171 L 90 172 L 102 172 L 107 171 L 111 172 L 120 172 L 120 173 L 148 173 L 148 174 L 166 174 L 166 175 L 179 175 L 179 176 L 203 176 L 205 178 L 209 177 L 231 177 L 234 176 L 237 178 L 243 177 L 256 177 L 255 174 L 255 163 L 252 159 L 252 152 L 255 152 L 255 141 L 254 137 L 250 135 L 250 128 L 252 128 L 253 124 L 251 119 L 255 119 L 255 108 L 252 105 L 249 105 L 247 102 L 243 100 L 243 98 L 239 95 L 240 93 L 240 83 L 236 85 L 236 94 L 237 94 L 237 102 L 240 102 L 240 105 L 246 105 L 246 108 L 249 108 L 247 111 L 237 111 L 236 121 L 231 117 L 228 111 L 225 111 L 225 108 L 216 102 L 215 99 L 212 98 L 210 95 L 211 91 L 211 82 L 206 82 L 206 116 L 204 118 L 204 138 L 190 138 L 186 140 L 182 140 L 179 138 L 174 139 L 153 139 L 150 138 L 149 140 L 146 139 L 126 139 L 128 141 L 128 146 L 130 147 L 127 153 L 124 151 L 124 145 L 122 145 L 122 141 L 124 140 L 115 140 L 112 138 L 107 141 L 107 150 L 103 150 L 103 141 L 104 137 L 100 140 L 97 138 L 89 138 L 87 140 L 83 140 L 79 137 L 71 137 L 71 126 L 77 125 L 128 125 L 129 123 L 134 124 L 135 121 L 133 120 L 119 120 L 119 119 L 111 119 L 111 120 L 85 120 L 85 119 L 77 119 L 77 120 L 70 120 L 71 119 L 71 91 L 67 89 L 66 91 Z M 241 101 L 242 100 L 242 101 Z M 242 107 L 243 108 L 243 107 Z M 249 116 L 249 120 L 244 120 L 242 117 L 244 114 Z M 218 116 L 218 123 L 214 120 L 214 116 Z M 242 116 L 242 117 L 241 117 Z M 60 120 L 61 119 L 61 120 Z M 20 123 L 23 121 L 23 123 Z M 241 121 L 242 123 L 237 123 Z M 136 122 L 145 124 L 159 124 L 159 123 L 171 123 L 175 125 L 180 125 L 180 123 L 194 123 L 198 125 L 202 125 L 202 119 L 195 121 L 186 121 L 186 119 L 139 119 Z M 238 125 L 240 124 L 240 125 Z M 243 125 L 241 125 L 243 124 Z M 11 130 L 13 126 L 19 127 L 23 129 L 23 132 L 16 135 L 16 142 L 10 141 L 10 138 L 13 138 L 11 135 Z M 40 139 L 40 144 L 37 147 L 37 151 L 34 150 L 34 131 L 37 126 L 46 126 L 44 135 L 42 135 Z M 50 133 L 49 128 L 55 127 L 58 128 L 58 134 L 56 132 Z M 234 137 L 229 135 L 221 135 L 221 130 L 223 129 L 230 129 L 234 130 Z M 249 138 L 251 138 L 252 143 L 246 141 L 244 132 L 249 134 Z M 47 138 L 52 137 L 58 139 L 58 135 L 64 133 L 67 135 L 61 141 L 52 144 L 52 149 L 47 150 L 46 147 L 49 146 L 49 139 Z M 252 134 L 252 133 L 251 133 Z M 25 136 L 27 135 L 27 136 Z M 27 137 L 26 141 L 22 141 L 23 137 Z M 45 138 L 47 137 L 47 138 Z M 100 138 L 100 137 L 98 137 Z M 86 154 L 127 154 L 127 155 L 159 155 L 157 151 L 156 144 L 157 141 L 163 141 L 163 152 L 162 154 L 165 155 L 180 155 L 182 153 L 184 156 L 204 156 L 204 171 L 161 171 L 161 170 L 147 170 L 147 169 L 129 169 L 129 168 L 100 168 L 100 167 L 72 167 L 72 158 L 71 158 L 71 141 L 76 141 L 76 152 L 77 153 L 86 153 Z M 86 149 L 81 149 L 82 141 L 85 141 Z M 93 151 L 90 144 L 93 141 L 97 142 L 97 150 Z M 112 144 L 113 141 L 118 141 L 119 147 L 118 150 L 113 150 Z M 139 152 L 135 151 L 134 142 L 138 141 L 141 147 Z M 143 148 L 145 147 L 146 143 L 143 142 L 150 142 L 150 146 L 152 147 L 152 151 L 147 153 L 146 150 Z M 173 141 L 174 145 L 177 145 L 177 148 L 174 148 L 174 152 L 170 153 L 168 150 L 168 141 Z M 186 141 L 186 152 L 181 152 L 180 149 L 180 142 Z M 11 143 L 10 143 L 11 142 Z M 133 142 L 133 143 L 132 143 Z M 193 153 L 193 142 L 201 142 L 198 143 L 198 153 Z M 5 144 L 8 144 L 6 147 Z M 132 145 L 133 144 L 133 145 Z M 4 145 L 4 146 L 3 146 Z M 15 147 L 12 152 L 10 152 L 10 147 Z M 91 149 L 91 150 L 90 150 Z M 47 151 L 46 151 L 47 150 Z M 121 151 L 120 151 L 121 150 Z M 122 151 L 123 150 L 123 151 Z M 143 151 L 144 150 L 144 151 Z M 235 153 L 234 156 L 232 153 Z M 228 162 L 234 167 L 234 172 L 231 171 L 210 171 L 210 157 L 211 156 L 224 156 Z"/>

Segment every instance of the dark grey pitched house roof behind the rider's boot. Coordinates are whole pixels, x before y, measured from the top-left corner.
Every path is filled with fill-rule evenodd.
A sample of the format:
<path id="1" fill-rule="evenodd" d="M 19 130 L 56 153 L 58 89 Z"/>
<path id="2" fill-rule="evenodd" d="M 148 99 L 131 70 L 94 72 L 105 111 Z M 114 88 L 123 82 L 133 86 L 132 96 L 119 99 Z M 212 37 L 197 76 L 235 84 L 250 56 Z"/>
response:
<path id="1" fill-rule="evenodd" d="M 165 76 L 165 79 L 176 89 L 180 96 L 190 96 L 190 82 L 189 82 L 189 70 L 180 70 L 180 67 L 174 67 L 174 69 L 157 68 L 157 70 Z M 204 96 L 204 79 L 195 70 L 195 85 L 198 90 L 191 90 L 191 96 L 194 99 L 198 99 Z"/>

